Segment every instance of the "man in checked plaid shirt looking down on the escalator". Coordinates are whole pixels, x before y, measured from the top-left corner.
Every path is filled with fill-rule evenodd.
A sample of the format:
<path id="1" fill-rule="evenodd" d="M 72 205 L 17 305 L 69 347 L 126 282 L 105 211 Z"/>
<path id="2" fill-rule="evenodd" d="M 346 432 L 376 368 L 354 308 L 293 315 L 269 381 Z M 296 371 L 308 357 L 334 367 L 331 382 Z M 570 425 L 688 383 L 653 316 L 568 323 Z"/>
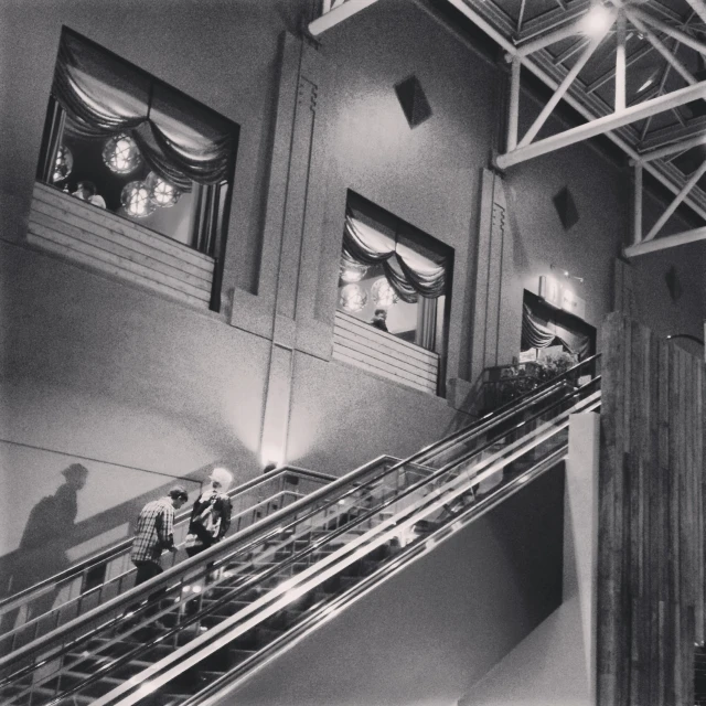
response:
<path id="1" fill-rule="evenodd" d="M 163 549 L 176 552 L 174 510 L 179 510 L 188 500 L 186 490 L 182 485 L 174 485 L 167 496 L 142 507 L 130 552 L 132 564 L 137 566 L 136 586 L 162 573 L 159 558 Z"/>

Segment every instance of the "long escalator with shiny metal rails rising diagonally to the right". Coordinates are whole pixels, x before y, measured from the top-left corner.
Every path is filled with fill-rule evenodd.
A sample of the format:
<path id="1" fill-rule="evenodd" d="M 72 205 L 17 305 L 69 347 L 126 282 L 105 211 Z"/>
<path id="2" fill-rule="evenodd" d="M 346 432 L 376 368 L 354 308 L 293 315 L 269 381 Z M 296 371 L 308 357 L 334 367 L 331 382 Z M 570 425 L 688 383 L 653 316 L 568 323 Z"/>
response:
<path id="1" fill-rule="evenodd" d="M 368 464 L 0 660 L 8 706 L 215 704 L 564 460 L 589 359 L 410 459 Z"/>

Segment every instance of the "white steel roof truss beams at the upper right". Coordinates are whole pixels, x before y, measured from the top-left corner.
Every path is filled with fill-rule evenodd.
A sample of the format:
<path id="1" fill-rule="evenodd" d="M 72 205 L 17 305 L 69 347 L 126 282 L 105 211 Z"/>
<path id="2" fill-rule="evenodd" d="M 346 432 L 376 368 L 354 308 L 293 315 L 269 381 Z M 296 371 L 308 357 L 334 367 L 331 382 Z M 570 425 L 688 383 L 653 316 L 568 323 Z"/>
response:
<path id="1" fill-rule="evenodd" d="M 376 0 L 323 0 L 323 13 L 309 30 L 319 35 Z M 686 0 L 692 9 L 684 18 L 662 0 L 556 0 L 554 10 L 527 18 L 532 2 L 522 0 L 517 17 L 505 11 L 505 0 L 447 0 L 489 34 L 506 52 L 510 69 L 510 100 L 505 152 L 496 156 L 495 164 L 505 170 L 530 159 L 605 135 L 622 149 L 634 167 L 634 232 L 628 256 L 706 239 L 706 227 L 677 235 L 656 237 L 681 204 L 688 205 L 706 222 L 706 193 L 698 181 L 706 175 L 706 162 L 693 174 L 685 175 L 672 159 L 694 147 L 706 145 L 706 117 L 685 121 L 680 107 L 706 98 L 706 81 L 699 81 L 684 61 L 684 51 L 696 52 L 706 66 L 705 0 Z M 428 10 L 425 0 L 414 0 Z M 587 32 L 587 15 L 602 6 L 607 21 L 600 31 Z M 504 7 L 505 6 L 505 7 Z M 632 34 L 644 40 L 632 52 L 627 41 Z M 610 38 L 610 39 L 609 39 Z M 571 41 L 573 40 L 573 41 Z M 548 47 L 564 42 L 561 51 L 552 54 Z M 614 65 L 592 81 L 580 75 L 586 65 L 614 42 Z M 682 50 L 682 54 L 680 54 Z M 628 96 L 628 78 L 632 66 L 648 53 L 659 54 L 664 62 L 660 81 L 644 94 Z M 573 60 L 570 68 L 564 62 Z M 553 90 L 553 95 L 524 135 L 518 133 L 521 117 L 522 69 L 533 74 Z M 686 85 L 666 92 L 670 77 L 678 76 Z M 596 92 L 614 82 L 612 105 Z M 587 122 L 537 139 L 559 101 L 566 101 Z M 676 128 L 650 131 L 653 118 L 671 111 L 678 121 Z M 642 122 L 639 130 L 637 124 Z M 642 233 L 642 184 L 648 172 L 674 194 L 673 202 L 650 228 Z"/>

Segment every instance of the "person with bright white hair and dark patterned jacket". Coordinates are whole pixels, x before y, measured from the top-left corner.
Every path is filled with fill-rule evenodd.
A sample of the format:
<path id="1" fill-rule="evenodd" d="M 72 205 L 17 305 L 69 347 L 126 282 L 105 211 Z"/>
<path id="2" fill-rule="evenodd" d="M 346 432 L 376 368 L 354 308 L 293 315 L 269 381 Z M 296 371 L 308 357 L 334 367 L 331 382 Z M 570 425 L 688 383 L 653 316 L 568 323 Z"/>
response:
<path id="1" fill-rule="evenodd" d="M 231 526 L 231 499 L 227 495 L 233 473 L 214 468 L 208 475 L 211 483 L 194 503 L 184 547 L 189 556 L 220 542 Z"/>

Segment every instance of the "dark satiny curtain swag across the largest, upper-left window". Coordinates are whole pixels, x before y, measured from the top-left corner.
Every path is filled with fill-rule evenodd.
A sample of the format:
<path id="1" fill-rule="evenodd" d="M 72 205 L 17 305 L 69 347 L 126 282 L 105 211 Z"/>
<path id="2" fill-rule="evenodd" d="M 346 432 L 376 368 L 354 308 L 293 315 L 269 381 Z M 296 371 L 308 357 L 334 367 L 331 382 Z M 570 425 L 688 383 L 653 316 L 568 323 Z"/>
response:
<path id="1" fill-rule="evenodd" d="M 173 118 L 151 110 L 156 86 L 146 95 L 141 95 L 141 86 L 127 93 L 118 88 L 111 95 L 105 78 L 92 75 L 98 65 L 92 52 L 76 38 L 66 33 L 62 36 L 52 95 L 71 118 L 66 126 L 69 131 L 84 138 L 129 135 L 149 168 L 182 191 L 191 191 L 192 181 L 207 185 L 227 179 L 233 135 L 223 129 L 225 126 L 208 126 L 214 137 L 195 133 L 185 126 L 180 130 Z M 105 73 L 110 74 L 110 69 Z M 125 84 L 125 76 L 121 79 Z"/>

